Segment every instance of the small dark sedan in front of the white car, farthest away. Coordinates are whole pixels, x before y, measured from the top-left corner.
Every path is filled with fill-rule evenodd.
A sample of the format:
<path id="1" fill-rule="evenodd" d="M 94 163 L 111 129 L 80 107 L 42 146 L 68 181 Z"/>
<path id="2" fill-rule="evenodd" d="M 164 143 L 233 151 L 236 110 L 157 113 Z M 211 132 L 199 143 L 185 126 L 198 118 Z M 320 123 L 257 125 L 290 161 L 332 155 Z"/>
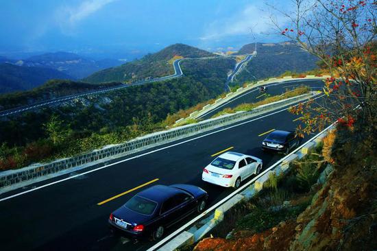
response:
<path id="1" fill-rule="evenodd" d="M 262 142 L 263 150 L 273 150 L 288 154 L 293 147 L 300 145 L 300 138 L 294 132 L 276 130 L 267 135 Z"/>

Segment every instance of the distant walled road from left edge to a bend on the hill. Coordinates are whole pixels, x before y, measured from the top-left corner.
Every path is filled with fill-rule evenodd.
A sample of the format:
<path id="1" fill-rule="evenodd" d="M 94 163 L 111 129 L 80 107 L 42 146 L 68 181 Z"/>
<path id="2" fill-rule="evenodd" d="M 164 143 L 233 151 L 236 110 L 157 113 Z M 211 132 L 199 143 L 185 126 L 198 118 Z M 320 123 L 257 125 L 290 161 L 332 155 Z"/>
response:
<path id="1" fill-rule="evenodd" d="M 83 97 L 83 96 L 99 94 L 99 93 L 107 93 L 109 91 L 114 91 L 114 90 L 118 90 L 118 89 L 121 89 L 121 88 L 127 88 L 127 87 L 130 87 L 130 86 L 140 86 L 142 84 L 147 84 L 147 83 L 151 83 L 151 82 L 158 82 L 158 81 L 163 81 L 163 80 L 169 80 L 169 79 L 174 78 L 174 77 L 181 77 L 183 75 L 182 69 L 180 67 L 181 60 L 182 60 L 182 58 L 175 60 L 173 62 L 173 68 L 174 68 L 174 74 L 173 75 L 168 75 L 168 76 L 165 76 L 165 77 L 158 77 L 158 78 L 154 78 L 153 80 L 138 81 L 138 82 L 135 82 L 134 84 L 123 84 L 121 86 L 104 88 L 104 89 L 97 90 L 97 91 L 88 91 L 86 93 L 69 95 L 69 96 L 59 97 L 59 98 L 56 98 L 56 99 L 49 99 L 49 100 L 45 100 L 45 101 L 40 101 L 38 103 L 30 104 L 30 105 L 27 105 L 27 106 L 20 106 L 20 107 L 17 107 L 17 108 L 12 108 L 12 109 L 9 109 L 9 110 L 2 110 L 2 111 L 0 111 L 0 117 L 5 117 L 5 116 L 8 116 L 8 115 L 14 115 L 14 114 L 20 113 L 20 112 L 26 112 L 26 111 L 29 111 L 29 110 L 42 108 L 43 106 L 49 106 L 51 104 L 58 104 L 58 103 L 61 103 L 61 102 L 64 102 L 64 101 L 68 101 L 70 99 L 75 99 L 77 97 Z"/>

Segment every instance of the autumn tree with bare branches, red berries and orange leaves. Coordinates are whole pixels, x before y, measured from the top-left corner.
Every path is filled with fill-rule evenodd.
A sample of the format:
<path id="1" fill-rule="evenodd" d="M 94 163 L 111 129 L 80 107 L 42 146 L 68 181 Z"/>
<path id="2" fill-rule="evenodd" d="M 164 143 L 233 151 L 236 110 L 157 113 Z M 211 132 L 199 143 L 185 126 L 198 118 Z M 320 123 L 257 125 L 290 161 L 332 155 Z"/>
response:
<path id="1" fill-rule="evenodd" d="M 304 136 L 338 121 L 352 130 L 356 119 L 372 125 L 376 115 L 376 1 L 292 0 L 288 11 L 267 3 L 279 34 L 321 60 L 324 104 L 309 101 L 292 108 L 302 115 Z M 280 17 L 280 21 L 276 19 Z M 285 21 L 281 21 L 281 18 Z M 374 133 L 376 128 L 370 131 Z"/>

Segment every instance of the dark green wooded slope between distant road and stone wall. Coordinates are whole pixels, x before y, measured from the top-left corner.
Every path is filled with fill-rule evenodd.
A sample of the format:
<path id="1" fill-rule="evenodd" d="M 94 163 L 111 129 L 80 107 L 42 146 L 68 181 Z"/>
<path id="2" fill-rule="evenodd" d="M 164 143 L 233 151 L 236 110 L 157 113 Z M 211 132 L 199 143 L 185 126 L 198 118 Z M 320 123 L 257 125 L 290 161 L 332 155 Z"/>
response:
<path id="1" fill-rule="evenodd" d="M 124 88 L 108 95 L 69 101 L 0 121 L 0 169 L 75 156 L 104 145 L 164 130 L 169 112 L 219 95 L 191 77 Z M 36 119 L 38 117 L 38 119 Z M 165 121 L 165 119 L 167 119 Z"/>

